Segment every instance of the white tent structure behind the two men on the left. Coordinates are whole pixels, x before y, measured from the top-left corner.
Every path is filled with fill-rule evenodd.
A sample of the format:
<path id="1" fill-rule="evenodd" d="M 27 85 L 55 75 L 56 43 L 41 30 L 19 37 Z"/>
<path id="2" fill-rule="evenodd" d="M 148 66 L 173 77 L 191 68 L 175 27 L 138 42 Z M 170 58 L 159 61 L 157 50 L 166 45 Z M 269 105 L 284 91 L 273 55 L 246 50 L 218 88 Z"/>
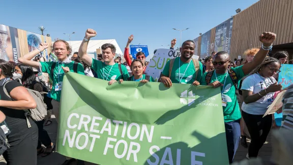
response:
<path id="1" fill-rule="evenodd" d="M 72 53 L 73 54 L 74 52 L 78 51 L 79 49 L 79 46 L 82 42 L 81 41 L 67 41 L 71 48 L 72 48 Z M 101 46 L 105 43 L 110 43 L 110 44 L 113 44 L 115 47 L 116 47 L 116 56 L 123 56 L 123 52 L 122 50 L 120 49 L 118 43 L 116 42 L 115 39 L 110 39 L 110 40 L 90 40 L 89 42 L 89 45 L 87 46 L 87 53 L 95 59 L 95 53 L 97 51 L 98 48 L 101 48 Z"/>

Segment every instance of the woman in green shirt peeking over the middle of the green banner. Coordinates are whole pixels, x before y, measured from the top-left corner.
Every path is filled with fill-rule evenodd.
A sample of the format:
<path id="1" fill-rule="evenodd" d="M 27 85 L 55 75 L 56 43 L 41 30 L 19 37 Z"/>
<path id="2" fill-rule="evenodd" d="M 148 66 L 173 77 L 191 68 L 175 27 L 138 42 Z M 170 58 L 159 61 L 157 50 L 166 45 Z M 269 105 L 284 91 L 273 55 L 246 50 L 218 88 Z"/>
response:
<path id="1" fill-rule="evenodd" d="M 140 60 L 137 60 L 137 59 L 133 60 L 130 68 L 132 71 L 132 76 L 127 78 L 127 81 L 140 81 L 142 83 L 155 81 L 152 76 L 143 74 L 143 63 Z M 119 81 L 123 82 L 123 79 L 120 79 Z M 117 81 L 114 79 L 110 80 L 109 85 L 112 85 L 114 82 L 117 82 Z"/>

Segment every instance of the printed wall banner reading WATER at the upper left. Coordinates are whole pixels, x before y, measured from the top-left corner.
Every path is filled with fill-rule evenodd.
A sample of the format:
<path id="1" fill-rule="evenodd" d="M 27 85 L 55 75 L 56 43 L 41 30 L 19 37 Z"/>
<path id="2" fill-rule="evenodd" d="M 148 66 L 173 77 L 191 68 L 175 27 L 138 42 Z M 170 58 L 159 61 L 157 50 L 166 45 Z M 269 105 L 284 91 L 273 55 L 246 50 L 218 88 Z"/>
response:
<path id="1" fill-rule="evenodd" d="M 19 57 L 37 49 L 41 42 L 46 42 L 46 36 L 0 24 L 0 59 L 18 63 Z M 43 57 L 47 55 L 44 50 Z"/>

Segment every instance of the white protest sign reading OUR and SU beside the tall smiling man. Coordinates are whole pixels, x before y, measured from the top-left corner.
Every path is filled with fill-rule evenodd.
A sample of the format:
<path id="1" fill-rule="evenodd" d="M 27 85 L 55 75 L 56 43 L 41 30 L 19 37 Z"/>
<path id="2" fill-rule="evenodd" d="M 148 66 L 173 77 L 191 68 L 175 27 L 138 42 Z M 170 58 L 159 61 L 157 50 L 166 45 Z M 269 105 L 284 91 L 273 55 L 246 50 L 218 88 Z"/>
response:
<path id="1" fill-rule="evenodd" d="M 145 69 L 145 74 L 152 76 L 155 81 L 158 81 L 166 63 L 169 60 L 180 56 L 181 53 L 178 50 L 158 49 L 150 61 L 147 69 Z"/>

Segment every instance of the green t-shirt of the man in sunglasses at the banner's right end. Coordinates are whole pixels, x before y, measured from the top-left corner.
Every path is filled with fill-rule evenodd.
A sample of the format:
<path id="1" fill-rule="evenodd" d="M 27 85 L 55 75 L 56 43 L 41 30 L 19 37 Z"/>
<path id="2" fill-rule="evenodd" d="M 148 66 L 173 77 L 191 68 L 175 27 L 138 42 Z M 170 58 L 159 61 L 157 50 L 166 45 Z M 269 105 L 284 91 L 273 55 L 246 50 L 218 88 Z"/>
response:
<path id="1" fill-rule="evenodd" d="M 231 68 L 233 71 L 235 71 L 238 79 L 238 87 L 240 85 L 241 79 L 245 76 L 242 70 L 242 66 L 236 67 L 236 68 Z M 200 85 L 207 85 L 206 82 L 206 76 L 207 73 L 204 73 L 200 82 Z M 225 82 L 225 77 L 226 73 L 224 74 L 217 74 L 218 81 L 221 82 L 221 84 L 224 84 Z M 216 75 L 215 71 L 213 72 L 211 82 L 216 81 Z M 223 91 L 224 88 L 224 91 Z M 238 104 L 237 96 L 235 93 L 235 86 L 233 85 L 233 81 L 229 74 L 227 75 L 226 83 L 225 86 L 221 87 L 221 92 L 223 91 L 223 97 L 227 101 L 227 106 L 223 106 L 223 113 L 224 113 L 224 121 L 225 122 L 231 122 L 235 121 L 241 118 L 241 112 L 240 112 L 240 107 Z"/>

